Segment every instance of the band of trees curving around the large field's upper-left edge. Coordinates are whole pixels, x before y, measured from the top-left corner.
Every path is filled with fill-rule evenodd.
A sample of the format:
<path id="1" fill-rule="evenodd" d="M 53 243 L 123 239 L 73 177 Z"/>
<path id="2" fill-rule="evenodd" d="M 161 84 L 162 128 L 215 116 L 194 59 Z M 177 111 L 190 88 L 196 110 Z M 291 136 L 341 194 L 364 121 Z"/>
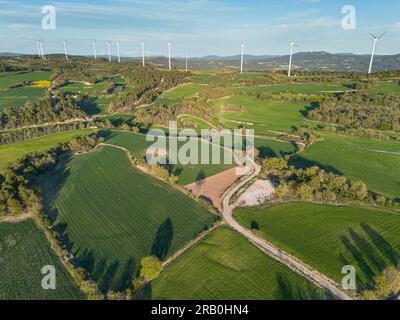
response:
<path id="1" fill-rule="evenodd" d="M 77 136 L 68 144 L 61 144 L 44 153 L 24 156 L 0 175 L 0 216 L 38 213 L 41 199 L 34 179 L 51 170 L 66 153 L 89 151 L 101 140 L 96 135 Z"/>

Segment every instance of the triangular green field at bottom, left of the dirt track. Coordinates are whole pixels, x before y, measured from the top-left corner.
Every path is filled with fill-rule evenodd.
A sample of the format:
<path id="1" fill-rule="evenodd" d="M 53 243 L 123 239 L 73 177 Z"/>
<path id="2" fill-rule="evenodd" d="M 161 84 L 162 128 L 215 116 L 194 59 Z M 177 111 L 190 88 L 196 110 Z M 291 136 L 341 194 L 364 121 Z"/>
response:
<path id="1" fill-rule="evenodd" d="M 327 295 L 235 231 L 220 227 L 163 271 L 138 298 L 306 300 Z"/>

